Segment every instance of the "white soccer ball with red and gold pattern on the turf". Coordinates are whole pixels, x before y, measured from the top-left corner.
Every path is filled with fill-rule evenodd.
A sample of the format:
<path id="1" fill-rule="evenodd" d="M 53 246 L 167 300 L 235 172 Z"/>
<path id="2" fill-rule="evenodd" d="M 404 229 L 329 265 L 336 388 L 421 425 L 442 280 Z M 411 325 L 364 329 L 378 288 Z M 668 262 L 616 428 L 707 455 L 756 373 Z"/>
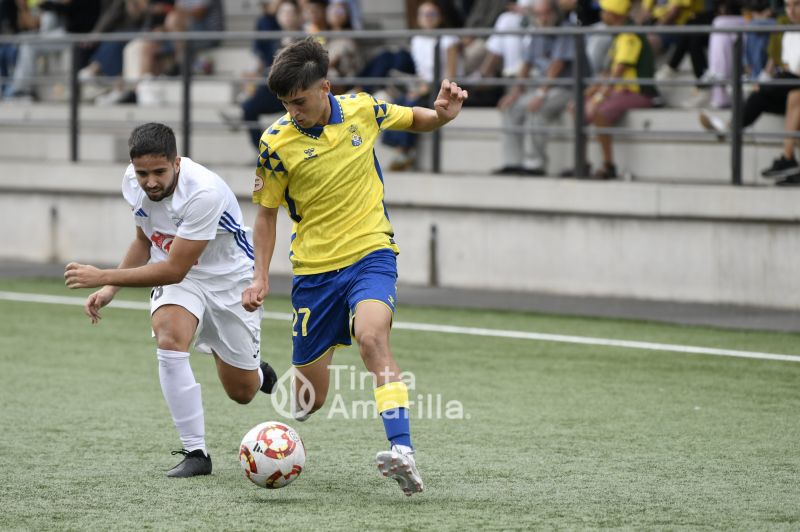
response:
<path id="1" fill-rule="evenodd" d="M 300 476 L 306 448 L 295 430 L 278 421 L 260 423 L 242 438 L 239 463 L 253 484 L 277 489 Z"/>

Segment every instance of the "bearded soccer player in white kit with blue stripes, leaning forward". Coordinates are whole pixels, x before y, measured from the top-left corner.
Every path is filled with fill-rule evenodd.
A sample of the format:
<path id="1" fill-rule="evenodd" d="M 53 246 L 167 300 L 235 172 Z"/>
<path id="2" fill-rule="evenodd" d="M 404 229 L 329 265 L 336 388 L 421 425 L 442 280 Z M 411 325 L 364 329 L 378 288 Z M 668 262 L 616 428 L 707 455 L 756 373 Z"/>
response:
<path id="1" fill-rule="evenodd" d="M 192 339 L 211 353 L 228 396 L 249 403 L 270 393 L 273 369 L 261 362 L 261 312 L 241 306 L 253 278 L 251 232 L 228 185 L 187 157 L 178 157 L 172 130 L 156 123 L 133 130 L 131 164 L 122 180 L 136 237 L 116 269 L 67 264 L 69 288 L 102 287 L 84 305 L 92 323 L 123 286 L 153 287 L 150 314 L 159 380 L 178 429 L 183 460 L 170 477 L 211 473 L 200 385 L 189 365 Z M 196 338 L 195 338 L 196 336 Z"/>

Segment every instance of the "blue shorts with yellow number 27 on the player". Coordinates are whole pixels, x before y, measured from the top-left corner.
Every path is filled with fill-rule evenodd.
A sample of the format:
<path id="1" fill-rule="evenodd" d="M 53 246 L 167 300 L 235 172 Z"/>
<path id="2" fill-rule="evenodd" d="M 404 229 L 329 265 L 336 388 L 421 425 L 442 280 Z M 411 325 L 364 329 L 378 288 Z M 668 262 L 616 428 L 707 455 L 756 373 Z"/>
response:
<path id="1" fill-rule="evenodd" d="M 332 272 L 296 275 L 292 281 L 292 364 L 307 366 L 330 348 L 352 344 L 352 321 L 361 301 L 380 301 L 394 313 L 397 259 L 373 251 Z"/>

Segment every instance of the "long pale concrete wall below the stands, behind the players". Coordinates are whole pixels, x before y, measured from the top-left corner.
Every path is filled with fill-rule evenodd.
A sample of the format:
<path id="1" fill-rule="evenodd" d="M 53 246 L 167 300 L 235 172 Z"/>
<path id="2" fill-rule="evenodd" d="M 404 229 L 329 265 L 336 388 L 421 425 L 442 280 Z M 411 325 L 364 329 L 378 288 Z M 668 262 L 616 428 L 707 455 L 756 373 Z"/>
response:
<path id="1" fill-rule="evenodd" d="M 0 258 L 116 263 L 119 165 L 0 165 Z M 250 171 L 215 168 L 240 195 Z M 31 176 L 36 176 L 31 178 Z M 388 174 L 401 281 L 800 308 L 800 202 L 779 188 Z M 54 213 L 54 214 L 53 214 Z M 281 217 L 274 271 L 289 271 Z"/>

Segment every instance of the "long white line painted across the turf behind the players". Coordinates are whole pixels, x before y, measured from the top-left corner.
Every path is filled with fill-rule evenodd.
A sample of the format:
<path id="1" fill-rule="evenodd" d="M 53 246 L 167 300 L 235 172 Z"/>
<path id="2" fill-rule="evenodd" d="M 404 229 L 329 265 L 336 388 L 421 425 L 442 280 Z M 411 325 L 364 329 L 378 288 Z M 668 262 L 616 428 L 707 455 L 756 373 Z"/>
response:
<path id="1" fill-rule="evenodd" d="M 83 306 L 85 301 L 81 297 L 51 296 L 44 294 L 26 294 L 21 292 L 0 291 L 0 300 L 20 301 L 24 303 L 47 303 L 55 305 Z M 109 305 L 113 308 L 149 310 L 150 305 L 137 301 L 114 300 Z M 292 315 L 285 312 L 264 312 L 264 319 L 288 321 Z M 758 351 L 737 351 L 733 349 L 717 349 L 713 347 L 698 347 L 692 345 L 660 344 L 655 342 L 637 342 L 632 340 L 612 340 L 609 338 L 593 338 L 590 336 L 570 336 L 563 334 L 547 334 L 525 331 L 505 331 L 502 329 L 482 329 L 479 327 L 459 327 L 455 325 L 435 325 L 429 323 L 413 323 L 398 321 L 393 324 L 395 329 L 410 331 L 424 331 L 445 334 L 464 334 L 469 336 L 488 336 L 494 338 L 517 338 L 520 340 L 538 340 L 542 342 L 559 342 L 567 344 L 600 345 L 607 347 L 626 347 L 629 349 L 646 349 L 649 351 L 670 351 L 674 353 L 690 353 L 696 355 L 715 355 L 737 358 L 752 358 L 757 360 L 779 360 L 783 362 L 800 362 L 798 355 L 781 355 L 777 353 L 760 353 Z"/>

